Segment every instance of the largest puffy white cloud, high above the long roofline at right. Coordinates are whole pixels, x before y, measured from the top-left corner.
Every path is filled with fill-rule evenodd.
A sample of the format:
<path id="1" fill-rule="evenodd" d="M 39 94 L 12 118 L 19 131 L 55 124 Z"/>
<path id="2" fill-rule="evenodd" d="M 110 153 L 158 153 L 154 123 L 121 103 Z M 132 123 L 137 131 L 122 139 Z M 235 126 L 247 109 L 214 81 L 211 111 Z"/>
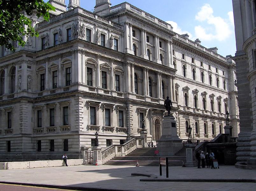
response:
<path id="1" fill-rule="evenodd" d="M 228 14 L 230 17 L 230 13 Z M 231 35 L 230 25 L 228 25 L 223 18 L 215 17 L 213 15 L 213 9 L 209 4 L 204 4 L 195 18 L 200 22 L 207 22 L 207 24 L 209 24 L 208 26 L 206 25 L 206 27 L 201 25 L 195 26 L 196 38 L 200 40 L 223 41 Z M 215 34 L 212 33 L 212 31 L 214 31 Z"/>

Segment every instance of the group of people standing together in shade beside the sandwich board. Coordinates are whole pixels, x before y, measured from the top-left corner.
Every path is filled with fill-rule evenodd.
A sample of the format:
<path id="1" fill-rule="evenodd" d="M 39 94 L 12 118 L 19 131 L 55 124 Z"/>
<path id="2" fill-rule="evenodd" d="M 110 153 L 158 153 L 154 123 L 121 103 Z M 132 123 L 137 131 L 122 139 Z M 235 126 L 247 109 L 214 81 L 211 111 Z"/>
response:
<path id="1" fill-rule="evenodd" d="M 210 154 L 207 152 L 206 155 L 203 154 L 203 151 L 199 150 L 199 152 L 196 152 L 196 159 L 197 159 L 197 168 L 200 167 L 200 163 L 202 161 L 202 168 L 205 168 L 205 163 L 207 165 L 207 168 L 214 168 L 213 166 L 213 159 L 214 153 L 210 151 Z"/>

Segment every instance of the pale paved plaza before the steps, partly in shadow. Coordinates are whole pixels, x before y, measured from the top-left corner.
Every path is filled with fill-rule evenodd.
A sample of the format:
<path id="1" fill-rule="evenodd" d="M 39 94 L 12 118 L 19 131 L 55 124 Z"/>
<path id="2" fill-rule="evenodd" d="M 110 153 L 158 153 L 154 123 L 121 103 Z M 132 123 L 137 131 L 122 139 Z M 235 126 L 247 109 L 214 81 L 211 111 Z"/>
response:
<path id="1" fill-rule="evenodd" d="M 256 180 L 255 170 L 237 169 L 234 166 L 220 166 L 219 169 L 197 167 L 169 167 L 168 179 L 183 182 L 144 182 L 140 179 L 166 179 L 159 176 L 158 166 L 61 166 L 0 171 L 1 182 L 60 185 L 84 188 L 103 188 L 115 190 L 256 190 L 256 183 L 239 182 Z M 132 176 L 132 173 L 151 175 L 151 177 Z M 202 180 L 202 182 L 188 182 Z M 210 182 L 212 179 L 235 179 L 238 182 Z"/>

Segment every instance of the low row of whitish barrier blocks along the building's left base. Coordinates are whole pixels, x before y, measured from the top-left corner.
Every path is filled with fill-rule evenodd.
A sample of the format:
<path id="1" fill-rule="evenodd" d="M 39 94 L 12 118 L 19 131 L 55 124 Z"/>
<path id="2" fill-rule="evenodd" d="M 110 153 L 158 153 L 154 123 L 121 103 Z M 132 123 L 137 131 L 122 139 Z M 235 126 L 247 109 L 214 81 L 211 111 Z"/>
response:
<path id="1" fill-rule="evenodd" d="M 83 159 L 68 159 L 68 166 L 83 165 Z M 38 160 L 38 161 L 24 161 L 24 162 L 2 162 L 0 163 L 0 170 L 20 169 L 20 168 L 40 168 L 52 166 L 65 166 L 64 160 Z"/>

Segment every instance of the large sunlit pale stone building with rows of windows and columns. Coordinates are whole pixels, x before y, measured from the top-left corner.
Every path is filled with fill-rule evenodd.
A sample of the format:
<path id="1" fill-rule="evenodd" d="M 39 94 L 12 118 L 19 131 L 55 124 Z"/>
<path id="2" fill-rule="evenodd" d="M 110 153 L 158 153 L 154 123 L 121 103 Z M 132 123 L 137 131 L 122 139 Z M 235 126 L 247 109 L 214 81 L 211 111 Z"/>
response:
<path id="1" fill-rule="evenodd" d="M 164 98 L 173 102 L 178 136 L 211 140 L 229 111 L 239 133 L 235 62 L 179 35 L 129 3 L 96 0 L 94 13 L 51 0 L 49 22 L 33 19 L 38 38 L 15 52 L 1 47 L 0 153 L 6 159 L 81 157 L 80 148 L 161 136 Z"/>

